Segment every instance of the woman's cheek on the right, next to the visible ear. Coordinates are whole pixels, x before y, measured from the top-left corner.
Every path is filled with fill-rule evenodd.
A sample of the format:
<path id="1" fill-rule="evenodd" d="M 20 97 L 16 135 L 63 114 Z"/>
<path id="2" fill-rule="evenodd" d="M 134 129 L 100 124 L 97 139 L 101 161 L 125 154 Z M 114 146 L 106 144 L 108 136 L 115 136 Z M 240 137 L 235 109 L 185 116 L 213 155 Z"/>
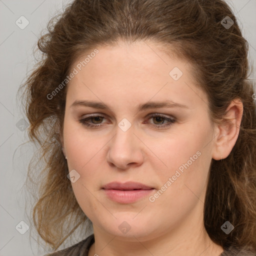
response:
<path id="1" fill-rule="evenodd" d="M 182 207 L 182 202 L 198 200 L 197 197 L 203 196 L 211 162 L 210 141 L 209 124 L 198 123 L 187 126 L 183 132 L 161 143 L 159 155 L 167 165 L 161 168 L 162 185 L 171 178 L 171 184 L 168 182 L 165 185 L 169 184 L 166 200 L 179 198 L 175 203 Z"/>

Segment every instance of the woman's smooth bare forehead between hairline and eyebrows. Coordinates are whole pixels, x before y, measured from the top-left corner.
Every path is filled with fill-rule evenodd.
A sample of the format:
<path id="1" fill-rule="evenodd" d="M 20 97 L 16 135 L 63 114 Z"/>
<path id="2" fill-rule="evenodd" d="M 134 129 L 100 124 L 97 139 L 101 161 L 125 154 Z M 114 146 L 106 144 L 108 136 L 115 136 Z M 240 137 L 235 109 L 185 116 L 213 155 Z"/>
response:
<path id="1" fill-rule="evenodd" d="M 67 99 L 70 95 L 73 100 L 88 97 L 109 102 L 114 98 L 153 98 L 195 104 L 204 97 L 195 85 L 189 62 L 167 55 L 160 46 L 144 41 L 122 42 L 97 47 L 97 51 L 91 55 L 86 52 L 71 66 L 70 70 L 75 68 L 77 74 L 68 83 Z"/>

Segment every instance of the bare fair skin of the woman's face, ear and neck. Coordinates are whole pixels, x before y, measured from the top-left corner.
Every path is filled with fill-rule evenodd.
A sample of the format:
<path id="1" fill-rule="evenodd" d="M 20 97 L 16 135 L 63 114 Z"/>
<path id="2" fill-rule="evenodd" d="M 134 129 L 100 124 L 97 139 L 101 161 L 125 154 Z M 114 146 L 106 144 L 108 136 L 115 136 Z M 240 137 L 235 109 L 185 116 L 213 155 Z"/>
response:
<path id="1" fill-rule="evenodd" d="M 229 120 L 212 125 L 206 94 L 196 86 L 188 61 L 170 57 L 152 42 L 120 41 L 97 49 L 68 84 L 62 134 L 68 169 L 80 175 L 72 183 L 75 197 L 93 223 L 95 243 L 89 256 L 219 255 L 223 248 L 203 226 L 203 201 L 211 159 L 228 156 L 237 139 L 242 103 L 232 101 L 225 116 Z M 169 75 L 174 67 L 183 72 L 176 81 Z M 75 100 L 103 102 L 109 109 L 71 106 Z M 164 100 L 187 108 L 136 109 L 138 104 Z M 176 121 L 157 128 L 168 120 L 150 118 L 153 113 Z M 79 122 L 88 114 L 103 116 L 87 120 L 101 126 Z M 123 118 L 131 124 L 126 131 L 118 127 Z M 149 195 L 197 151 L 200 156 L 149 201 Z M 101 189 L 112 181 L 137 181 L 155 189 L 136 202 L 117 203 Z M 130 226 L 126 233 L 118 228 L 123 221 Z"/>

